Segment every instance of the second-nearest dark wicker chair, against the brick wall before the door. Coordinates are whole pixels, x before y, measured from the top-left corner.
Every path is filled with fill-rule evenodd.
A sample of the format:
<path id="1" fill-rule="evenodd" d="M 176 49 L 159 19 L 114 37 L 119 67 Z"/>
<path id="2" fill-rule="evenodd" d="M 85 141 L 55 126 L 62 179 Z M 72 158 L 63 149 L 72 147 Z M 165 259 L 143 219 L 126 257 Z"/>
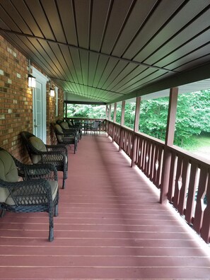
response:
<path id="1" fill-rule="evenodd" d="M 21 137 L 28 150 L 32 163 L 50 163 L 63 172 L 63 185 L 68 177 L 68 152 L 64 145 L 45 145 L 30 132 L 21 132 Z"/>

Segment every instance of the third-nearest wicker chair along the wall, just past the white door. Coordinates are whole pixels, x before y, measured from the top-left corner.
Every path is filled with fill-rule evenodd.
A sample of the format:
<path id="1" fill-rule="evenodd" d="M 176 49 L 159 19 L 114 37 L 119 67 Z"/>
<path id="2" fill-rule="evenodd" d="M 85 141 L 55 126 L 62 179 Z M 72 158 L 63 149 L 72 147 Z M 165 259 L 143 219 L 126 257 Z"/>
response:
<path id="1" fill-rule="evenodd" d="M 71 132 L 65 132 L 59 124 L 51 124 L 54 130 L 54 134 L 57 138 L 57 143 L 64 146 L 70 146 L 74 144 L 74 153 L 77 149 L 77 137 Z"/>

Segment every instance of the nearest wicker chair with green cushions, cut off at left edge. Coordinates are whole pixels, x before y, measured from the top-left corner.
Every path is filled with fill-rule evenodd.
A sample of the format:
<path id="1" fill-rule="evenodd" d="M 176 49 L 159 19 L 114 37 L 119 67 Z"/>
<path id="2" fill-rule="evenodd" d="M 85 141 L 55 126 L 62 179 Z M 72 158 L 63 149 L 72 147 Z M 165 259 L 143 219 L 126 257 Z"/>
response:
<path id="1" fill-rule="evenodd" d="M 58 214 L 59 189 L 53 165 L 25 165 L 0 148 L 1 217 L 10 212 L 49 213 L 49 241 L 54 239 L 53 216 Z M 23 180 L 19 180 L 19 176 Z"/>

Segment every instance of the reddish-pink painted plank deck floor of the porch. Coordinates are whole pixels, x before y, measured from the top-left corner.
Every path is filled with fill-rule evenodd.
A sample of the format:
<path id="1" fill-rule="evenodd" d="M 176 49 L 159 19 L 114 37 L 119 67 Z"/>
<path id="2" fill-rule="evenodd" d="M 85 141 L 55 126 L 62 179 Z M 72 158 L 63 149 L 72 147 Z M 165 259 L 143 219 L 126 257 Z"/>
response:
<path id="1" fill-rule="evenodd" d="M 0 219 L 0 279 L 210 279 L 210 258 L 105 134 L 69 150 L 54 241 L 46 213 Z"/>

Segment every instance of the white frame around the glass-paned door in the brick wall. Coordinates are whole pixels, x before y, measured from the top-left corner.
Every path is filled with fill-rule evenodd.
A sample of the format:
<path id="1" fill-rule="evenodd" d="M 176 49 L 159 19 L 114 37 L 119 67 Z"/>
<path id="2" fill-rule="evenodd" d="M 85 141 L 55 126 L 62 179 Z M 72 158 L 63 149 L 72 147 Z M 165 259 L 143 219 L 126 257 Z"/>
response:
<path id="1" fill-rule="evenodd" d="M 47 138 L 47 114 L 46 114 L 46 84 L 48 81 L 48 78 L 43 75 L 40 71 L 38 71 L 37 69 L 35 69 L 33 67 L 33 72 L 32 72 L 33 76 L 35 76 L 36 81 L 38 81 L 39 83 L 42 83 L 42 141 L 44 143 L 46 143 L 46 138 Z M 34 107 L 35 103 L 34 103 L 34 90 L 33 90 L 33 133 L 35 133 L 35 127 L 34 127 L 34 119 L 35 119 L 35 107 Z"/>

